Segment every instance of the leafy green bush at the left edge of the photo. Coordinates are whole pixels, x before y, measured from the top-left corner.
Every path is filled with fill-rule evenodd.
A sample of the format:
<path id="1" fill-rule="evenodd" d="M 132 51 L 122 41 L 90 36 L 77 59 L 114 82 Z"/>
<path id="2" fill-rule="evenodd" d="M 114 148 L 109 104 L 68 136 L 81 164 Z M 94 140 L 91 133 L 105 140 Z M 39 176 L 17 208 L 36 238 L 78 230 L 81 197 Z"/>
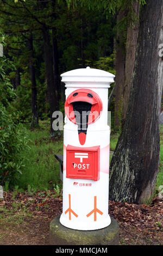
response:
<path id="1" fill-rule="evenodd" d="M 26 129 L 20 123 L 19 112 L 11 105 L 16 97 L 6 77 L 10 60 L 0 58 L 0 184 L 14 186 L 21 174 L 22 152 L 28 148 Z"/>

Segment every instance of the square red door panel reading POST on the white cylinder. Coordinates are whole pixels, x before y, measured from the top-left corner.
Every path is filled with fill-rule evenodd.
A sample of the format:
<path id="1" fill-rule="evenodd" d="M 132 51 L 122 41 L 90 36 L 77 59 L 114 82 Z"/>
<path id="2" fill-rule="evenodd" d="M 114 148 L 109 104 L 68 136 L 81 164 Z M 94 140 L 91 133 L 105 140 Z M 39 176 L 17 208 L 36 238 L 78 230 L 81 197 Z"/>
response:
<path id="1" fill-rule="evenodd" d="M 100 147 L 79 148 L 67 145 L 66 178 L 99 180 Z"/>

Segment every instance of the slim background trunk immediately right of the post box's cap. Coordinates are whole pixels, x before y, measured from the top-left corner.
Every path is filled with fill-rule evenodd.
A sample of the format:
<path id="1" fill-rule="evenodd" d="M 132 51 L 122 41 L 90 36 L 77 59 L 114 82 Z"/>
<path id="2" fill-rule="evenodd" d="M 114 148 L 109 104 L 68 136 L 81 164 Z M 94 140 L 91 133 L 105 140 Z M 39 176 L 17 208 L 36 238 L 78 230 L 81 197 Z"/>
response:
<path id="1" fill-rule="evenodd" d="M 123 11 L 117 15 L 117 23 L 124 18 Z M 125 68 L 125 46 L 123 39 L 123 31 L 117 28 L 117 44 L 116 44 L 116 83 L 115 83 L 115 129 L 121 127 L 122 104 L 123 104 L 123 86 L 124 86 L 124 68 Z"/>

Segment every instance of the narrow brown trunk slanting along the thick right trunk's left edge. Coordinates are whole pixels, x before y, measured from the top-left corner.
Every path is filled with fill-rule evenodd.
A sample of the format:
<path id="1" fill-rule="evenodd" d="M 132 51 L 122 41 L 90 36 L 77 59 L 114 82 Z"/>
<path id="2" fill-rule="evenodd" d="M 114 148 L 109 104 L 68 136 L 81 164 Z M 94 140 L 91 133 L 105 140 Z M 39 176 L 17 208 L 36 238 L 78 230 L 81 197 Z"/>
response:
<path id="1" fill-rule="evenodd" d="M 139 33 L 139 10 L 140 3 L 136 0 L 133 3 L 133 11 L 135 13 L 134 21 L 131 21 L 127 29 L 127 40 L 126 40 L 126 62 L 125 62 L 125 76 L 124 76 L 124 87 L 123 87 L 123 110 L 122 110 L 122 124 L 126 118 L 128 101 L 130 96 L 131 82 L 134 72 L 135 54 L 137 47 L 137 38 Z"/>

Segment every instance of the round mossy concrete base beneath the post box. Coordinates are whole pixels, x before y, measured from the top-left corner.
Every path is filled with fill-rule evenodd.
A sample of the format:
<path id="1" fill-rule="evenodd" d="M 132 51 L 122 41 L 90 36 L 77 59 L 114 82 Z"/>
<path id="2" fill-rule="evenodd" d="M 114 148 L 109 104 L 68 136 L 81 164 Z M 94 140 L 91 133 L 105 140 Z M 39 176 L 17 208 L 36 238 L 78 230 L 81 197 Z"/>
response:
<path id="1" fill-rule="evenodd" d="M 111 217 L 111 216 L 110 216 Z M 49 245 L 118 245 L 119 226 L 111 217 L 111 224 L 98 230 L 76 230 L 61 225 L 60 215 L 55 217 L 49 229 Z"/>

